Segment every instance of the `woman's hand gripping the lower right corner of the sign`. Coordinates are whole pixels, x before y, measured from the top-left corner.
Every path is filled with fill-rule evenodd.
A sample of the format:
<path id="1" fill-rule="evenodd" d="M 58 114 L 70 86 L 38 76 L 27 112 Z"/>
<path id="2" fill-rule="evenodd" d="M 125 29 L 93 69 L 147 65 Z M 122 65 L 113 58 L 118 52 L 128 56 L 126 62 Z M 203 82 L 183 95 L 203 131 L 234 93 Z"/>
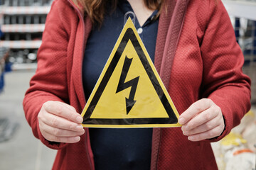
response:
<path id="1" fill-rule="evenodd" d="M 208 98 L 193 103 L 181 114 L 178 123 L 191 141 L 218 137 L 225 128 L 221 109 Z"/>

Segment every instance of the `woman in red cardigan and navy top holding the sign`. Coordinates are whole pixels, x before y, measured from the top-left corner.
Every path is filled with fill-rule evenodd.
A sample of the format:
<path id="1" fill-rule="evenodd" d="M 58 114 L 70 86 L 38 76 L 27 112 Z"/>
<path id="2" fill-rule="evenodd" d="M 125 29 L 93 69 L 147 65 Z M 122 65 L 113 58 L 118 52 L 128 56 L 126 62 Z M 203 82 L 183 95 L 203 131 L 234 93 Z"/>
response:
<path id="1" fill-rule="evenodd" d="M 127 11 L 137 16 L 182 128 L 80 125 Z M 225 137 L 250 109 L 242 64 L 221 1 L 55 0 L 23 107 L 33 134 L 58 149 L 53 169 L 217 169 L 210 142 Z"/>

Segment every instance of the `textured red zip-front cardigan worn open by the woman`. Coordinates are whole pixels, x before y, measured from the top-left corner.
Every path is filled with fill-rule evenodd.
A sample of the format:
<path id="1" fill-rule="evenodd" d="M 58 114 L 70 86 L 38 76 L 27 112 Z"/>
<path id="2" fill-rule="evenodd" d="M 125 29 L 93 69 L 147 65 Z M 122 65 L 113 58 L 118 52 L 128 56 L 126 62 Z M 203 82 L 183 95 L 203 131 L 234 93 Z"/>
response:
<path id="1" fill-rule="evenodd" d="M 228 13 L 220 0 L 167 0 L 159 18 L 155 66 L 178 113 L 200 98 L 220 106 L 225 130 L 220 137 L 190 142 L 181 128 L 154 128 L 151 169 L 217 169 L 210 142 L 220 140 L 250 109 L 250 79 Z M 33 134 L 58 149 L 53 169 L 94 169 L 88 130 L 80 142 L 48 142 L 37 115 L 46 101 L 63 101 L 78 113 L 85 106 L 82 57 L 92 28 L 70 2 L 55 0 L 38 50 L 38 69 L 23 107 Z"/>

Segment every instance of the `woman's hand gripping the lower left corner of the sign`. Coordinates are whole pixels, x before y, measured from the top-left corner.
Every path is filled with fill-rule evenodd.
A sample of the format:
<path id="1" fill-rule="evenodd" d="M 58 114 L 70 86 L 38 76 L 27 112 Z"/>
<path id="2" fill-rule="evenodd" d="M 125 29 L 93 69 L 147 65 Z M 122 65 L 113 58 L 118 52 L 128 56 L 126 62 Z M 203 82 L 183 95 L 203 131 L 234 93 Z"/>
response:
<path id="1" fill-rule="evenodd" d="M 43 103 L 38 122 L 43 137 L 51 142 L 75 143 L 85 132 L 80 124 L 82 116 L 72 106 L 59 101 Z"/>

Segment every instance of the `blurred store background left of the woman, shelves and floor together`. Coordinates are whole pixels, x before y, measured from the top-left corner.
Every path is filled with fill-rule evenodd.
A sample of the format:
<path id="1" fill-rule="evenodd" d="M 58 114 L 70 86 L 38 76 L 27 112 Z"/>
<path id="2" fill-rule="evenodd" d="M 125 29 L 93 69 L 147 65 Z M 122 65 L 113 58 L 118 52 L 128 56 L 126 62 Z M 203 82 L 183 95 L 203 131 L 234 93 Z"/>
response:
<path id="1" fill-rule="evenodd" d="M 56 154 L 33 137 L 22 100 L 36 71 L 52 0 L 0 0 L 0 169 L 51 169 Z"/>

